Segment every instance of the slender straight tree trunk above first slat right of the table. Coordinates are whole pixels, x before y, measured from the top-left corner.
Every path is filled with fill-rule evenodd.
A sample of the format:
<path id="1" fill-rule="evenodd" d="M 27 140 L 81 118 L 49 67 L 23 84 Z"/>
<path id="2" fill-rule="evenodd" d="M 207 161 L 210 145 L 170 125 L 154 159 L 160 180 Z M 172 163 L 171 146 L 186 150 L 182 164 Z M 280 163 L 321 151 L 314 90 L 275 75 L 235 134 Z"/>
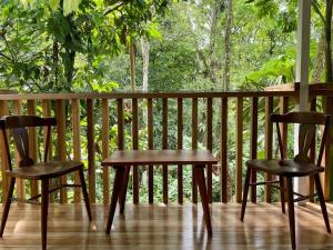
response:
<path id="1" fill-rule="evenodd" d="M 228 91 L 230 88 L 230 64 L 231 64 L 231 29 L 232 29 L 232 0 L 226 0 L 226 24 L 225 24 L 225 37 L 224 37 L 224 78 L 223 78 L 223 90 Z"/>

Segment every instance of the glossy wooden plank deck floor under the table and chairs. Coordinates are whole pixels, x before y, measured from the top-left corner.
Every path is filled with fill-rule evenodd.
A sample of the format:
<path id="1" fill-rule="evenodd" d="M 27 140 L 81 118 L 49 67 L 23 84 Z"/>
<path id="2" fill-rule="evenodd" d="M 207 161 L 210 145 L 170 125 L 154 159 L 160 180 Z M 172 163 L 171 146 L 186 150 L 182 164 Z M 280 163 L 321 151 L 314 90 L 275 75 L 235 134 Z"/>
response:
<path id="1" fill-rule="evenodd" d="M 290 249 L 287 217 L 279 204 L 249 204 L 244 223 L 239 221 L 239 204 L 212 206 L 213 238 L 208 240 L 201 206 L 128 204 L 124 217 L 117 213 L 111 236 L 105 236 L 108 208 L 92 206 L 89 223 L 83 206 L 52 204 L 49 213 L 48 249 Z M 329 207 L 331 227 L 333 207 Z M 296 208 L 299 249 L 333 249 L 319 207 Z M 40 249 L 38 206 L 13 204 L 0 249 Z"/>

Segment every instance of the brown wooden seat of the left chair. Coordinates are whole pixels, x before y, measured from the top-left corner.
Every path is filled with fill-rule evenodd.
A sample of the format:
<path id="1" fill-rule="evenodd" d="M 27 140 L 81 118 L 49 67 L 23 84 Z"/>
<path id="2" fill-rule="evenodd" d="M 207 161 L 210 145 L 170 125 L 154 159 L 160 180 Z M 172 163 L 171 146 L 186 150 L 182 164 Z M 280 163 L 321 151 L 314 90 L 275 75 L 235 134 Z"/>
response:
<path id="1" fill-rule="evenodd" d="M 8 170 L 7 174 L 20 179 L 42 180 L 77 171 L 82 167 L 81 161 L 49 161 Z"/>

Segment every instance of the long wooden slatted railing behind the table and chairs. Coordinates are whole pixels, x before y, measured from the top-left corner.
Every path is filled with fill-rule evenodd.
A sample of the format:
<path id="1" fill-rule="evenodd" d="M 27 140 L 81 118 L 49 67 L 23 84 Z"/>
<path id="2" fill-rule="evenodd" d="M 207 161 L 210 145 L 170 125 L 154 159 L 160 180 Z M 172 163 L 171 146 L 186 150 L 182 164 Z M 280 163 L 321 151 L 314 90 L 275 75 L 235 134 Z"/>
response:
<path id="1" fill-rule="evenodd" d="M 97 202 L 97 181 L 102 181 L 102 200 L 110 199 L 111 169 L 100 167 L 100 160 L 118 149 L 168 149 L 173 148 L 208 148 L 219 158 L 219 166 L 209 166 L 206 169 L 209 200 L 213 200 L 213 172 L 220 176 L 220 200 L 228 202 L 231 199 L 229 190 L 235 190 L 234 199 L 241 201 L 244 161 L 258 158 L 259 143 L 268 158 L 274 154 L 273 128 L 269 121 L 272 112 L 286 112 L 293 108 L 297 100 L 296 90 L 286 91 L 235 91 L 235 92 L 114 92 L 114 93 L 31 93 L 31 94 L 0 94 L 0 116 L 6 114 L 39 114 L 43 117 L 56 116 L 58 120 L 57 134 L 53 136 L 50 159 L 65 160 L 72 158 L 83 160 L 88 169 L 89 198 Z M 218 108 L 216 108 L 218 107 Z M 250 110 L 248 109 L 250 107 Z M 176 113 L 175 113 L 176 112 Z M 201 117 L 204 116 L 204 119 Z M 250 119 L 250 121 L 248 121 Z M 171 120 L 171 121 L 170 121 Z M 174 122 L 175 120 L 175 122 Z M 204 124 L 199 121 L 204 120 Z M 162 130 L 157 131 L 155 122 L 161 121 Z M 144 123 L 147 131 L 140 134 L 140 124 Z M 235 127 L 230 127 L 234 123 Z M 110 130 L 110 128 L 113 128 Z M 184 131 L 191 129 L 191 142 L 185 144 Z M 113 132 L 117 132 L 114 136 Z M 174 132 L 176 131 L 176 132 Z M 250 132 L 249 141 L 244 134 Z M 283 140 L 286 141 L 286 128 Z M 111 134 L 112 133 L 112 134 Z M 172 134 L 172 137 L 170 136 Z M 83 138 L 84 136 L 84 138 Z M 38 158 L 37 131 L 30 133 L 31 156 Z M 54 140 L 57 138 L 57 140 Z M 155 144 L 157 138 L 161 143 Z M 117 144 L 113 141 L 117 141 Z M 172 143 L 170 140 L 173 140 Z M 175 141 L 174 141 L 175 140 Z M 264 143 L 262 143 L 264 140 Z M 87 142 L 87 143 L 85 143 Z M 232 143 L 234 146 L 231 146 Z M 101 144 L 101 147 L 100 147 Z M 244 147 L 249 147 L 245 150 Z M 244 156 L 244 152 L 250 152 Z M 234 151 L 234 152 L 233 152 Z M 53 152 L 53 156 L 51 153 Z M 230 158 L 230 154 L 234 154 Z M 7 162 L 1 153 L 2 197 L 7 193 L 8 180 L 3 178 Z M 231 160 L 232 159 L 232 162 Z M 18 160 L 18 156 L 16 156 Z M 162 166 L 162 201 L 169 202 L 169 171 Z M 230 170 L 234 169 L 234 178 Z M 148 167 L 148 201 L 154 202 L 154 172 L 152 166 Z M 102 173 L 100 173 L 102 172 Z M 98 173 L 98 174 L 97 174 Z M 192 176 L 193 177 L 193 176 Z M 271 178 L 270 176 L 264 177 Z M 183 203 L 184 177 L 183 167 L 176 167 L 178 202 Z M 252 176 L 252 180 L 256 174 Z M 132 171 L 133 202 L 140 202 L 139 168 Z M 192 201 L 198 202 L 195 179 L 192 179 Z M 58 180 L 68 181 L 65 178 Z M 79 182 L 78 176 L 73 177 Z M 188 181 L 188 180 L 186 180 Z M 329 182 L 329 179 L 325 178 Z M 324 184 L 329 189 L 330 184 Z M 28 188 L 29 187 L 29 188 Z M 313 188 L 313 187 L 312 187 Z M 38 183 L 17 182 L 19 198 L 36 194 Z M 329 193 L 329 190 L 325 192 Z M 271 189 L 264 190 L 264 199 L 271 201 Z M 60 201 L 80 202 L 80 190 L 73 192 L 73 200 L 68 197 L 68 190 L 59 194 Z M 256 201 L 256 189 L 251 190 L 251 200 Z"/>

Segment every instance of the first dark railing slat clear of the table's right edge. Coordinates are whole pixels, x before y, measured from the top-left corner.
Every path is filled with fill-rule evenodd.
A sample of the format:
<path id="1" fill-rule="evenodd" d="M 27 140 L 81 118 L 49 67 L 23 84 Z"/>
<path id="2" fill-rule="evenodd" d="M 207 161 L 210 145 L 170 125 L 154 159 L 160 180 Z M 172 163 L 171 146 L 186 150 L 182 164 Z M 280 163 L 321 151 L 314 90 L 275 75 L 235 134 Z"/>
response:
<path id="1" fill-rule="evenodd" d="M 228 202 L 228 98 L 221 100 L 221 201 Z"/>

